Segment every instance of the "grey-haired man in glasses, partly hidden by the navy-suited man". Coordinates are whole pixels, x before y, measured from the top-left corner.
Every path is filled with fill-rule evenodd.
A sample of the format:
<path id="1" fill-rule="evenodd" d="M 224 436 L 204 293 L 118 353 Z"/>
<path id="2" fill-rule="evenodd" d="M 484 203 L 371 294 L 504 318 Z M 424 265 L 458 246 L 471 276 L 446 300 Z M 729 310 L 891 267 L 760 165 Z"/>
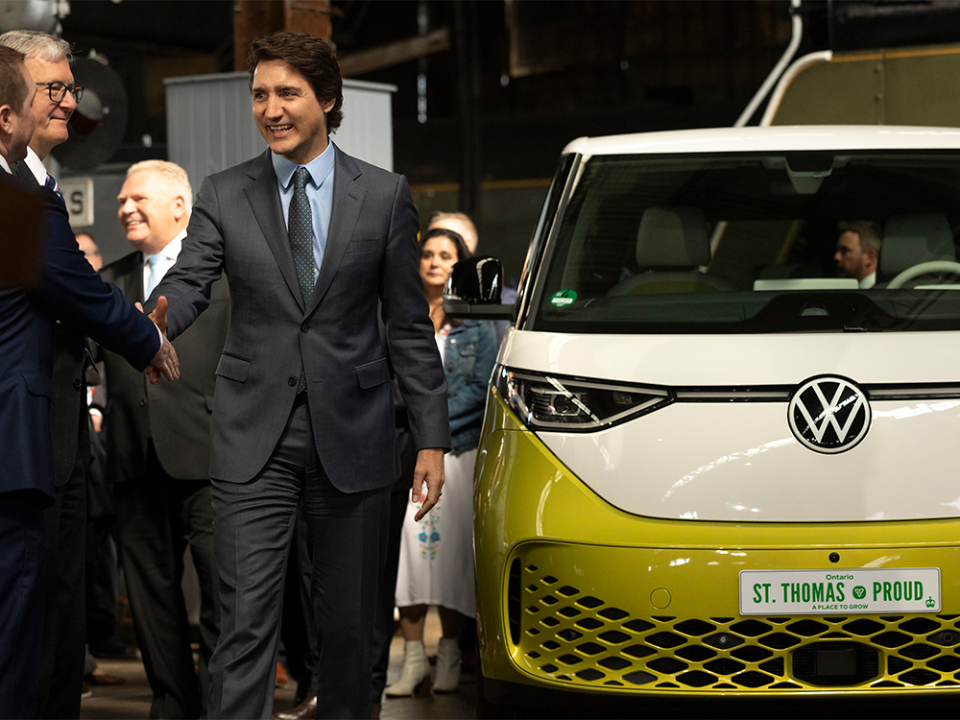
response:
<path id="1" fill-rule="evenodd" d="M 69 137 L 67 123 L 83 93 L 70 69 L 70 45 L 32 30 L 6 32 L 0 36 L 0 44 L 26 56 L 27 70 L 37 88 L 32 105 L 36 124 L 27 157 L 13 171 L 28 185 L 59 193 L 43 161 Z M 92 358 L 77 328 L 57 324 L 53 362 L 50 418 L 57 489 L 54 503 L 45 513 L 48 573 L 37 720 L 62 720 L 79 714 L 86 641 L 84 548 L 90 438 L 85 370 Z"/>

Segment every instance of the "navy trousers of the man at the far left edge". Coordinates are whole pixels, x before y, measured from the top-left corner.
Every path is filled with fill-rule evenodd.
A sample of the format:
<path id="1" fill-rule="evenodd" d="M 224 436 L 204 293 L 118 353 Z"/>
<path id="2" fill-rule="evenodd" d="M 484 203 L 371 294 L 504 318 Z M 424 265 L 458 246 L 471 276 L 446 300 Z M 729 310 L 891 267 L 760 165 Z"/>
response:
<path id="1" fill-rule="evenodd" d="M 37 706 L 47 551 L 41 494 L 0 494 L 0 718 Z"/>

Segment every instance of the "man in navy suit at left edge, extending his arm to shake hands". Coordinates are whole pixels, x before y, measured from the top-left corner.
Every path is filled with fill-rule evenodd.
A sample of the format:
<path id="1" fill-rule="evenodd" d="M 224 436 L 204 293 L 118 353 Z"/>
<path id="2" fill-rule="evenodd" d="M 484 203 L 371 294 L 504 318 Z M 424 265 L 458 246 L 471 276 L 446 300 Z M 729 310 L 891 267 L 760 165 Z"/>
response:
<path id="1" fill-rule="evenodd" d="M 34 133 L 36 88 L 23 54 L 0 45 L 0 191 L 14 182 L 10 164 L 25 157 Z M 138 370 L 151 365 L 169 379 L 177 376 L 176 354 L 157 327 L 87 263 L 62 199 L 46 188 L 35 192 L 44 220 L 39 282 L 29 291 L 0 288 L 0 717 L 5 720 L 31 720 L 37 711 L 48 545 L 44 508 L 55 496 L 50 421 L 55 325 L 90 335 Z M 80 651 L 82 663 L 82 645 Z"/>

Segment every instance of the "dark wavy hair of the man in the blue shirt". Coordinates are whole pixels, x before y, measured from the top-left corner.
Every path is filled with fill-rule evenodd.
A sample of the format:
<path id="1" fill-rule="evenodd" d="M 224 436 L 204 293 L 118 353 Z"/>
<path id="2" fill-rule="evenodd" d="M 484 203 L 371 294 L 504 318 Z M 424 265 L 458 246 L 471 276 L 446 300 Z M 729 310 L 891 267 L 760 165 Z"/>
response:
<path id="1" fill-rule="evenodd" d="M 340 64 L 333 48 L 325 41 L 308 33 L 293 33 L 281 30 L 272 35 L 254 40 L 247 55 L 250 71 L 250 89 L 253 90 L 253 73 L 264 60 L 283 60 L 303 75 L 317 102 L 334 100 L 327 113 L 327 132 L 335 133 L 343 122 L 343 78 Z"/>

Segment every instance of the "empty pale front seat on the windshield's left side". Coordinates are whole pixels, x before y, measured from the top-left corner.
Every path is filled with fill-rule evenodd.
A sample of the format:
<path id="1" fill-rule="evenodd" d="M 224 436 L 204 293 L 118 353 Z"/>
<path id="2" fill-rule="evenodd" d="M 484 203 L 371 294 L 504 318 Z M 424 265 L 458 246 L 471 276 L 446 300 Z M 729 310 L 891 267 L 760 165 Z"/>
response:
<path id="1" fill-rule="evenodd" d="M 695 207 L 651 207 L 637 229 L 640 272 L 617 283 L 609 295 L 697 293 L 733 289 L 699 270 L 710 262 L 710 234 Z"/>

